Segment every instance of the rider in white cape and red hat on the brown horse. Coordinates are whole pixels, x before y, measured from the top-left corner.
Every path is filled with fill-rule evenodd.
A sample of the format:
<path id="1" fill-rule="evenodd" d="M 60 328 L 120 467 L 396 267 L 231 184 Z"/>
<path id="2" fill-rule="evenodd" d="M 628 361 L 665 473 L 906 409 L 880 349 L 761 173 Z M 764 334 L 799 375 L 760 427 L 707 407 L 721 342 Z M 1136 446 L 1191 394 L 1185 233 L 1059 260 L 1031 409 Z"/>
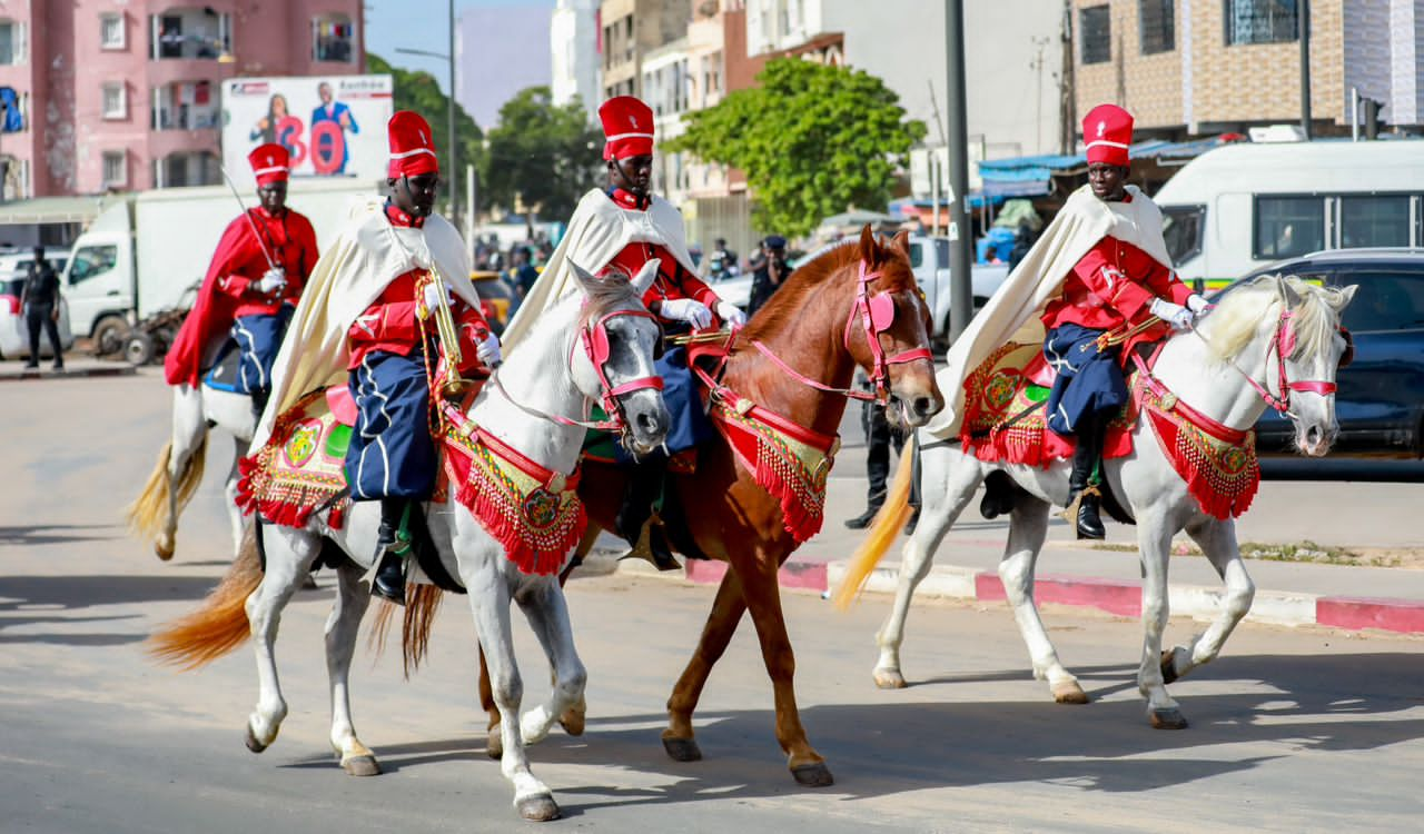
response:
<path id="1" fill-rule="evenodd" d="M 598 118 L 607 137 L 604 161 L 608 188 L 591 191 L 578 202 L 558 250 L 506 329 L 506 344 L 514 344 L 540 312 L 574 292 L 572 270 L 565 260 L 595 275 L 609 268 L 637 275 L 644 263 L 656 259 L 658 276 L 642 300 L 669 333 L 705 330 L 716 319 L 736 327 L 745 324 L 746 315 L 740 309 L 719 299 L 696 278 L 678 209 L 649 192 L 652 110 L 632 95 L 619 95 L 598 108 Z M 672 414 L 664 448 L 676 453 L 708 438 L 712 430 L 688 369 L 686 350 L 668 350 L 658 360 L 658 373 L 664 379 L 664 401 Z M 664 453 L 654 453 L 632 467 L 617 519 L 618 535 L 628 539 L 639 555 L 646 528 L 651 558 L 665 569 L 676 566 L 676 561 L 661 528 L 648 521 L 654 502 L 662 494 L 666 467 Z"/>

